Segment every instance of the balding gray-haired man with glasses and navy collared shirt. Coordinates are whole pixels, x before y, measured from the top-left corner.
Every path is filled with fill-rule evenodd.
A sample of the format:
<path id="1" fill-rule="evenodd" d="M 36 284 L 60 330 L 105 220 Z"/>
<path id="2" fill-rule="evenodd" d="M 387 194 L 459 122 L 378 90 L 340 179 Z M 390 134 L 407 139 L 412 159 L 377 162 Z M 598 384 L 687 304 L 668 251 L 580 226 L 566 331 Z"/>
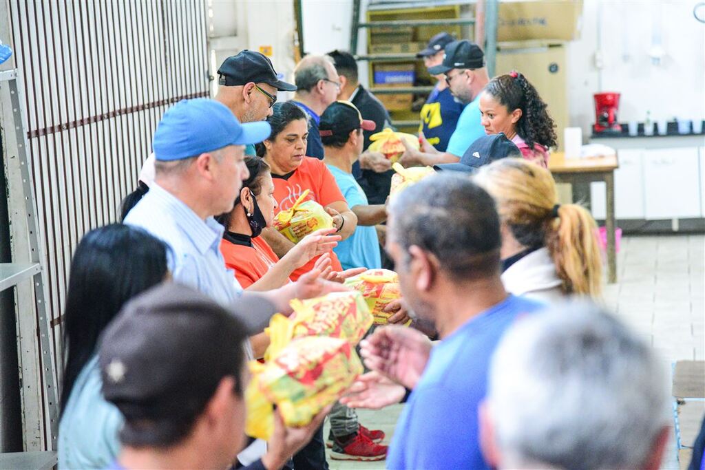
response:
<path id="1" fill-rule="evenodd" d="M 321 114 L 341 93 L 341 79 L 338 77 L 333 59 L 329 56 L 306 56 L 294 69 L 294 82 L 297 90 L 293 101 L 311 116 L 306 155 L 319 160 L 324 151 L 318 123 Z"/>

